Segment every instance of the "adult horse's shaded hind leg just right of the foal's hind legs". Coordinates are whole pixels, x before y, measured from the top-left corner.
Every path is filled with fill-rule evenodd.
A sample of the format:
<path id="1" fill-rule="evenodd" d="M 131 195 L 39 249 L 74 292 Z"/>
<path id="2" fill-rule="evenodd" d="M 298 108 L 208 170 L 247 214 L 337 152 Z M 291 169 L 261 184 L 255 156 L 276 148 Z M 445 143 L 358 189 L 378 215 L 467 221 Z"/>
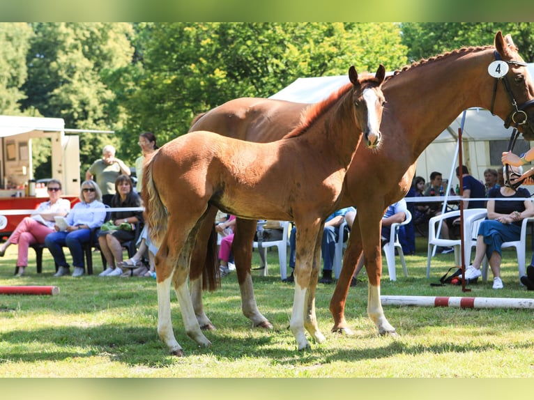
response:
<path id="1" fill-rule="evenodd" d="M 210 206 L 206 213 L 206 217 L 204 217 L 204 221 L 201 224 L 199 233 L 197 234 L 197 241 L 194 244 L 189 271 L 191 301 L 193 303 L 194 315 L 197 316 L 197 321 L 202 330 L 215 330 L 215 325 L 213 325 L 208 316 L 206 316 L 204 305 L 202 303 L 202 271 L 208 262 L 208 259 L 206 259 L 206 248 L 215 222 L 215 215 L 217 215 L 217 208 Z"/>

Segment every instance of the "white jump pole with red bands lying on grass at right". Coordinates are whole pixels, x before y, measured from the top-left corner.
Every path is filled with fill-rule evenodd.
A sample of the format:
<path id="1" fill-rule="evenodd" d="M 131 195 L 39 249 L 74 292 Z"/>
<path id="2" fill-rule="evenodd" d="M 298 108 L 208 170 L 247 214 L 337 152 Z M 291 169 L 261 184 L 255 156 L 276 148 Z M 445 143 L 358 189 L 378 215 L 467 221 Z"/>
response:
<path id="1" fill-rule="evenodd" d="M 380 296 L 382 305 L 458 308 L 534 309 L 534 298 L 470 298 L 444 296 Z"/>

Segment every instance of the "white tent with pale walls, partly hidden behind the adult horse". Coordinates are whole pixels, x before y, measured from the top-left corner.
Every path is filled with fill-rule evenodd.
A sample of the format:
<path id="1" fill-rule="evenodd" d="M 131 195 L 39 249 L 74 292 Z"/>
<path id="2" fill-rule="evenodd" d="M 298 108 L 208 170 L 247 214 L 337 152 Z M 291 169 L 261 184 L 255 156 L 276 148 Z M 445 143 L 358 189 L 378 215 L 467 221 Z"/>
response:
<path id="1" fill-rule="evenodd" d="M 534 76 L 534 63 L 528 64 L 528 70 Z M 347 83 L 349 83 L 347 75 L 298 78 L 289 86 L 270 96 L 270 98 L 314 103 L 328 98 L 330 93 Z M 455 121 L 452 121 L 448 128 L 441 132 L 420 155 L 415 175 L 422 176 L 427 181 L 432 171 L 440 171 L 444 178 L 450 176 L 450 167 L 444 166 L 450 166 L 451 157 L 455 157 L 458 128 L 461 126 L 462 118 L 464 118 L 464 113 L 460 114 Z M 477 108 L 465 111 L 464 129 L 462 130 L 464 139 L 463 160 L 464 164 L 468 166 L 471 175 L 484 180 L 485 169 L 488 167 L 495 169 L 501 167 L 500 161 L 496 162 L 496 157 L 493 157 L 494 162 L 491 162 L 491 152 L 498 153 L 500 151 L 498 150 L 499 148 L 505 151 L 511 133 L 512 128 L 505 129 L 501 118 L 492 116 L 486 109 Z M 492 142 L 491 145 L 490 142 Z M 514 153 L 517 153 L 517 149 L 521 148 L 521 146 L 529 148 L 530 144 L 522 139 L 517 141 Z M 454 160 L 454 162 L 456 165 L 457 161 Z M 455 187 L 456 183 L 456 177 L 452 178 L 453 187 Z M 532 187 L 528 188 L 532 189 Z"/>

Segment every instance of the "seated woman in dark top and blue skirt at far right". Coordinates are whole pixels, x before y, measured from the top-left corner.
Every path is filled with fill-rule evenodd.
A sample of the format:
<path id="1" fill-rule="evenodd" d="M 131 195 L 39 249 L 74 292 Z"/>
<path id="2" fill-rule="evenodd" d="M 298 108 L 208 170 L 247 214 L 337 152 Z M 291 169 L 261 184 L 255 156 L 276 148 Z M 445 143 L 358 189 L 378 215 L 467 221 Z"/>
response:
<path id="1" fill-rule="evenodd" d="M 521 167 L 511 167 L 513 174 L 519 176 Z M 510 178 L 513 182 L 514 177 Z M 495 201 L 495 199 L 513 199 L 517 201 Z M 524 187 L 517 188 L 517 192 L 509 187 L 505 177 L 505 185 L 491 189 L 488 192 L 487 220 L 480 223 L 477 236 L 477 246 L 473 264 L 466 268 L 465 278 L 476 279 L 482 275 L 480 266 L 484 256 L 489 260 L 491 272 L 494 275 L 493 289 L 503 289 L 501 279 L 501 245 L 503 242 L 519 240 L 521 236 L 521 221 L 534 215 L 534 205 L 530 200 L 519 200 L 531 197 Z"/>

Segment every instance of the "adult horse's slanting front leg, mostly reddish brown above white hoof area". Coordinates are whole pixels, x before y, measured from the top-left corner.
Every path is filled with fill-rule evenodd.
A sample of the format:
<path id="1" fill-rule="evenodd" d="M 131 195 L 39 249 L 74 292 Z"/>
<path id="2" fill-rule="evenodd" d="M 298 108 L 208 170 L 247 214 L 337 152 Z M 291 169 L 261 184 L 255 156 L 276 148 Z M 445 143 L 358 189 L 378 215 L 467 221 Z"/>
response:
<path id="1" fill-rule="evenodd" d="M 351 279 L 356 271 L 358 259 L 362 254 L 362 238 L 360 236 L 360 225 L 358 222 L 358 214 L 354 219 L 351 227 L 351 235 L 349 236 L 349 243 L 343 255 L 343 267 L 340 273 L 340 279 L 337 280 L 334 294 L 330 299 L 330 312 L 334 317 L 334 326 L 332 332 L 339 332 L 344 334 L 353 334 L 349 328 L 349 324 L 345 319 L 345 302 L 349 295 L 349 288 L 351 286 Z"/>

